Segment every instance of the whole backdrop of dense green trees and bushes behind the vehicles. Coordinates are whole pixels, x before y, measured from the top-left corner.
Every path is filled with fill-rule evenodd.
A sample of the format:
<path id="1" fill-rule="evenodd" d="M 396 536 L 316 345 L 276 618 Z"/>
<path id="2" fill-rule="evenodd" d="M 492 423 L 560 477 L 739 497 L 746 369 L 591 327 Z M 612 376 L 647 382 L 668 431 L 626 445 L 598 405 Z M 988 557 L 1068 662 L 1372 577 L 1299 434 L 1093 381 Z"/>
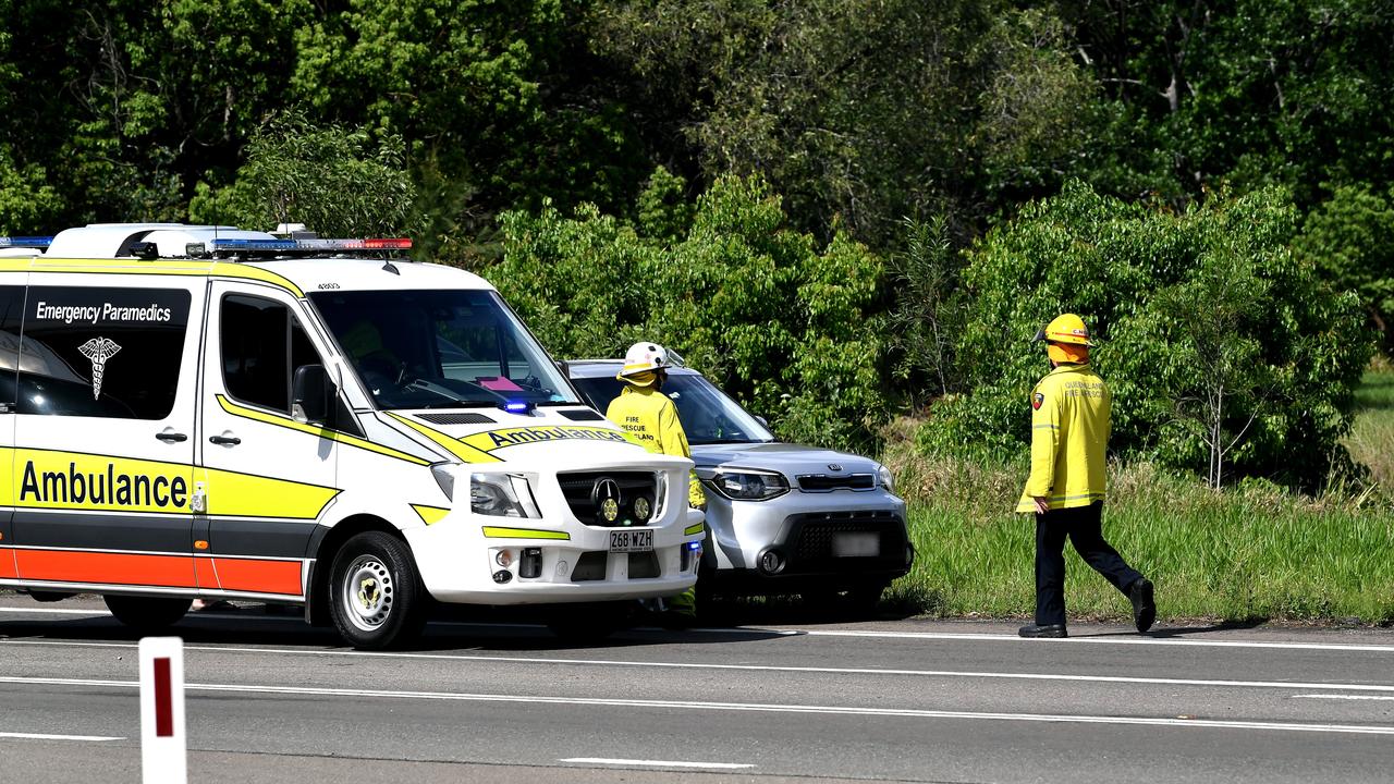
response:
<path id="1" fill-rule="evenodd" d="M 669 340 L 802 438 L 944 399 L 930 441 L 1005 451 L 1039 370 L 1016 338 L 1068 306 L 1111 333 L 1124 452 L 1310 483 L 1361 321 L 1394 346 L 1387 0 L 0 0 L 0 234 L 410 232 L 553 350 Z"/>

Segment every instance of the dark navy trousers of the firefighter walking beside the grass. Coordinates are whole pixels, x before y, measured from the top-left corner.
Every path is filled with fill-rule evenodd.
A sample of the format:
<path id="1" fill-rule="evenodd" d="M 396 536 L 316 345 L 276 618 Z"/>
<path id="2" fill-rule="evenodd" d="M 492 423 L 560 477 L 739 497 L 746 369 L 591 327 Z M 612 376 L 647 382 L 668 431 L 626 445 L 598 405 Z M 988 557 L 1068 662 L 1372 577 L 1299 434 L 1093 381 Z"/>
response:
<path id="1" fill-rule="evenodd" d="M 1065 537 L 1086 564 L 1128 596 L 1142 579 L 1118 551 L 1104 541 L 1104 502 L 1036 515 L 1036 624 L 1065 622 Z"/>

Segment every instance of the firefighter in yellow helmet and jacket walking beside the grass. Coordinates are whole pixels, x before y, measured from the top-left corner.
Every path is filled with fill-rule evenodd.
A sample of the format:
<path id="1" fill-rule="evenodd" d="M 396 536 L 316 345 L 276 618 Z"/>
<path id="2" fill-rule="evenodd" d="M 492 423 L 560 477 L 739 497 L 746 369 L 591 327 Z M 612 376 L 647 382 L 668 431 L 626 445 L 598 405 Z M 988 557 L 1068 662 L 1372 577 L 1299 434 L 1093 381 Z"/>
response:
<path id="1" fill-rule="evenodd" d="M 1104 541 L 1104 458 L 1108 449 L 1108 386 L 1089 367 L 1089 329 L 1066 312 L 1036 333 L 1046 342 L 1050 374 L 1032 391 L 1032 476 L 1016 506 L 1036 513 L 1036 622 L 1023 638 L 1064 638 L 1065 537 L 1079 555 L 1133 607 L 1139 632 L 1157 607 L 1147 578 Z"/>

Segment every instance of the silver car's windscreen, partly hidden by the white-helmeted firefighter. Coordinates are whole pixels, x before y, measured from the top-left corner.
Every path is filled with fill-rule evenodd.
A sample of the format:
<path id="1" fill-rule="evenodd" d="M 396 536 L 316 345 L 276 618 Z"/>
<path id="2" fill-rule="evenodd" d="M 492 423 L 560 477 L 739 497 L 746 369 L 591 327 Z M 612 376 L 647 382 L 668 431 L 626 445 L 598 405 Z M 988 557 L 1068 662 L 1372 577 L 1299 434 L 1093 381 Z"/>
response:
<path id="1" fill-rule="evenodd" d="M 599 412 L 609 407 L 625 386 L 613 375 L 573 378 L 572 384 Z M 664 393 L 677 405 L 677 419 L 683 423 L 689 444 L 761 444 L 775 439 L 756 417 L 703 375 L 671 374 L 664 382 Z"/>

